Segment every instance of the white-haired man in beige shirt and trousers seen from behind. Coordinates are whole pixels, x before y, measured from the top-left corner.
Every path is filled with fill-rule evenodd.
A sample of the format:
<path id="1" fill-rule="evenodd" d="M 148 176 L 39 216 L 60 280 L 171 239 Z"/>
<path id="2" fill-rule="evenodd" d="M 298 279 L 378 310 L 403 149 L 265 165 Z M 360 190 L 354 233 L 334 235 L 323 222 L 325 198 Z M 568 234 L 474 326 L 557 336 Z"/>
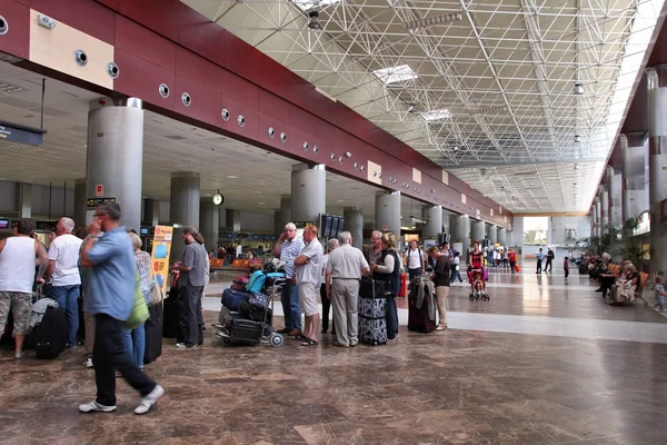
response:
<path id="1" fill-rule="evenodd" d="M 359 280 L 370 274 L 370 268 L 361 250 L 352 247 L 352 235 L 349 231 L 342 231 L 338 238 L 340 247 L 329 254 L 325 281 L 334 307 L 337 338 L 334 346 L 357 346 Z"/>

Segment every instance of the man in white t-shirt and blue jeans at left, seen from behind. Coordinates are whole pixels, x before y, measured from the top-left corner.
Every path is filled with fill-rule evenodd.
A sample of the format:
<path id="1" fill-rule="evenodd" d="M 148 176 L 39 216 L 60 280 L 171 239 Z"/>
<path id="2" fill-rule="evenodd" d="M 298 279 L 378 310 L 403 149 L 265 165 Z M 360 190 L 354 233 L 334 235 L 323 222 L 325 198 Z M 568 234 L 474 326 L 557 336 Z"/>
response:
<path id="1" fill-rule="evenodd" d="M 79 329 L 79 290 L 81 277 L 79 276 L 80 238 L 72 235 L 74 221 L 70 218 L 60 218 L 56 226 L 58 237 L 49 246 L 49 267 L 47 280 L 51 278 L 49 297 L 58 301 L 64 309 L 67 318 L 67 345 L 77 346 L 77 330 Z"/>

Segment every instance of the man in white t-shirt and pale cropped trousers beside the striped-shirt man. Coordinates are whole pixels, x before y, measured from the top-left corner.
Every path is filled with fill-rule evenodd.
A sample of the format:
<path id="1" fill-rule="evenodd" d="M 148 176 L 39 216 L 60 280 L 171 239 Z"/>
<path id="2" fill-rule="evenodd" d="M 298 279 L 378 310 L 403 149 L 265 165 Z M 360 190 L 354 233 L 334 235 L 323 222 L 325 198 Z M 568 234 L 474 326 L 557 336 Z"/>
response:
<path id="1" fill-rule="evenodd" d="M 299 286 L 299 306 L 306 315 L 306 326 L 302 332 L 301 346 L 317 345 L 319 328 L 319 306 L 317 294 L 322 283 L 322 258 L 325 250 L 317 239 L 317 227 L 306 226 L 303 229 L 306 246 L 295 259 L 297 285 Z"/>

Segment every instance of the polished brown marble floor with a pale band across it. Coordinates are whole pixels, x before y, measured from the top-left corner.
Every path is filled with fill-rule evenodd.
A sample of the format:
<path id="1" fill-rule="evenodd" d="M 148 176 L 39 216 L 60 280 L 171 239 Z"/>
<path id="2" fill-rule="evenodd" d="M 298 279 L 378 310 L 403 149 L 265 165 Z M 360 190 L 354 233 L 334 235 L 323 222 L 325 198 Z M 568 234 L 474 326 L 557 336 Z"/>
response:
<path id="1" fill-rule="evenodd" d="M 147 367 L 159 407 L 119 379 L 119 407 L 84 415 L 94 396 L 80 349 L 56 360 L 0 350 L 0 444 L 664 444 L 667 318 L 639 301 L 610 307 L 576 271 L 492 271 L 491 300 L 452 286 L 445 333 L 340 349 L 165 340 Z M 206 298 L 217 319 L 225 279 Z M 647 293 L 649 303 L 653 297 Z M 276 312 L 280 314 L 280 305 Z M 281 327 L 280 318 L 277 326 Z"/>

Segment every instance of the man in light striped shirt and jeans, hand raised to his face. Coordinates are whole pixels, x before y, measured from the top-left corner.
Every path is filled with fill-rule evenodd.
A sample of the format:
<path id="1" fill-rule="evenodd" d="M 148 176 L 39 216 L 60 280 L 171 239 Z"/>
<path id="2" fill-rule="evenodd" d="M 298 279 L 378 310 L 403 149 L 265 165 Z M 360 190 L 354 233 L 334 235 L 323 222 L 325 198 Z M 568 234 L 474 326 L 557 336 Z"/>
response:
<path id="1" fill-rule="evenodd" d="M 301 309 L 295 276 L 295 259 L 297 259 L 302 248 L 303 240 L 297 237 L 297 226 L 288 222 L 285 226 L 285 231 L 273 246 L 273 255 L 285 261 L 285 277 L 287 278 L 281 297 L 285 327 L 278 330 L 280 334 L 301 335 Z"/>

